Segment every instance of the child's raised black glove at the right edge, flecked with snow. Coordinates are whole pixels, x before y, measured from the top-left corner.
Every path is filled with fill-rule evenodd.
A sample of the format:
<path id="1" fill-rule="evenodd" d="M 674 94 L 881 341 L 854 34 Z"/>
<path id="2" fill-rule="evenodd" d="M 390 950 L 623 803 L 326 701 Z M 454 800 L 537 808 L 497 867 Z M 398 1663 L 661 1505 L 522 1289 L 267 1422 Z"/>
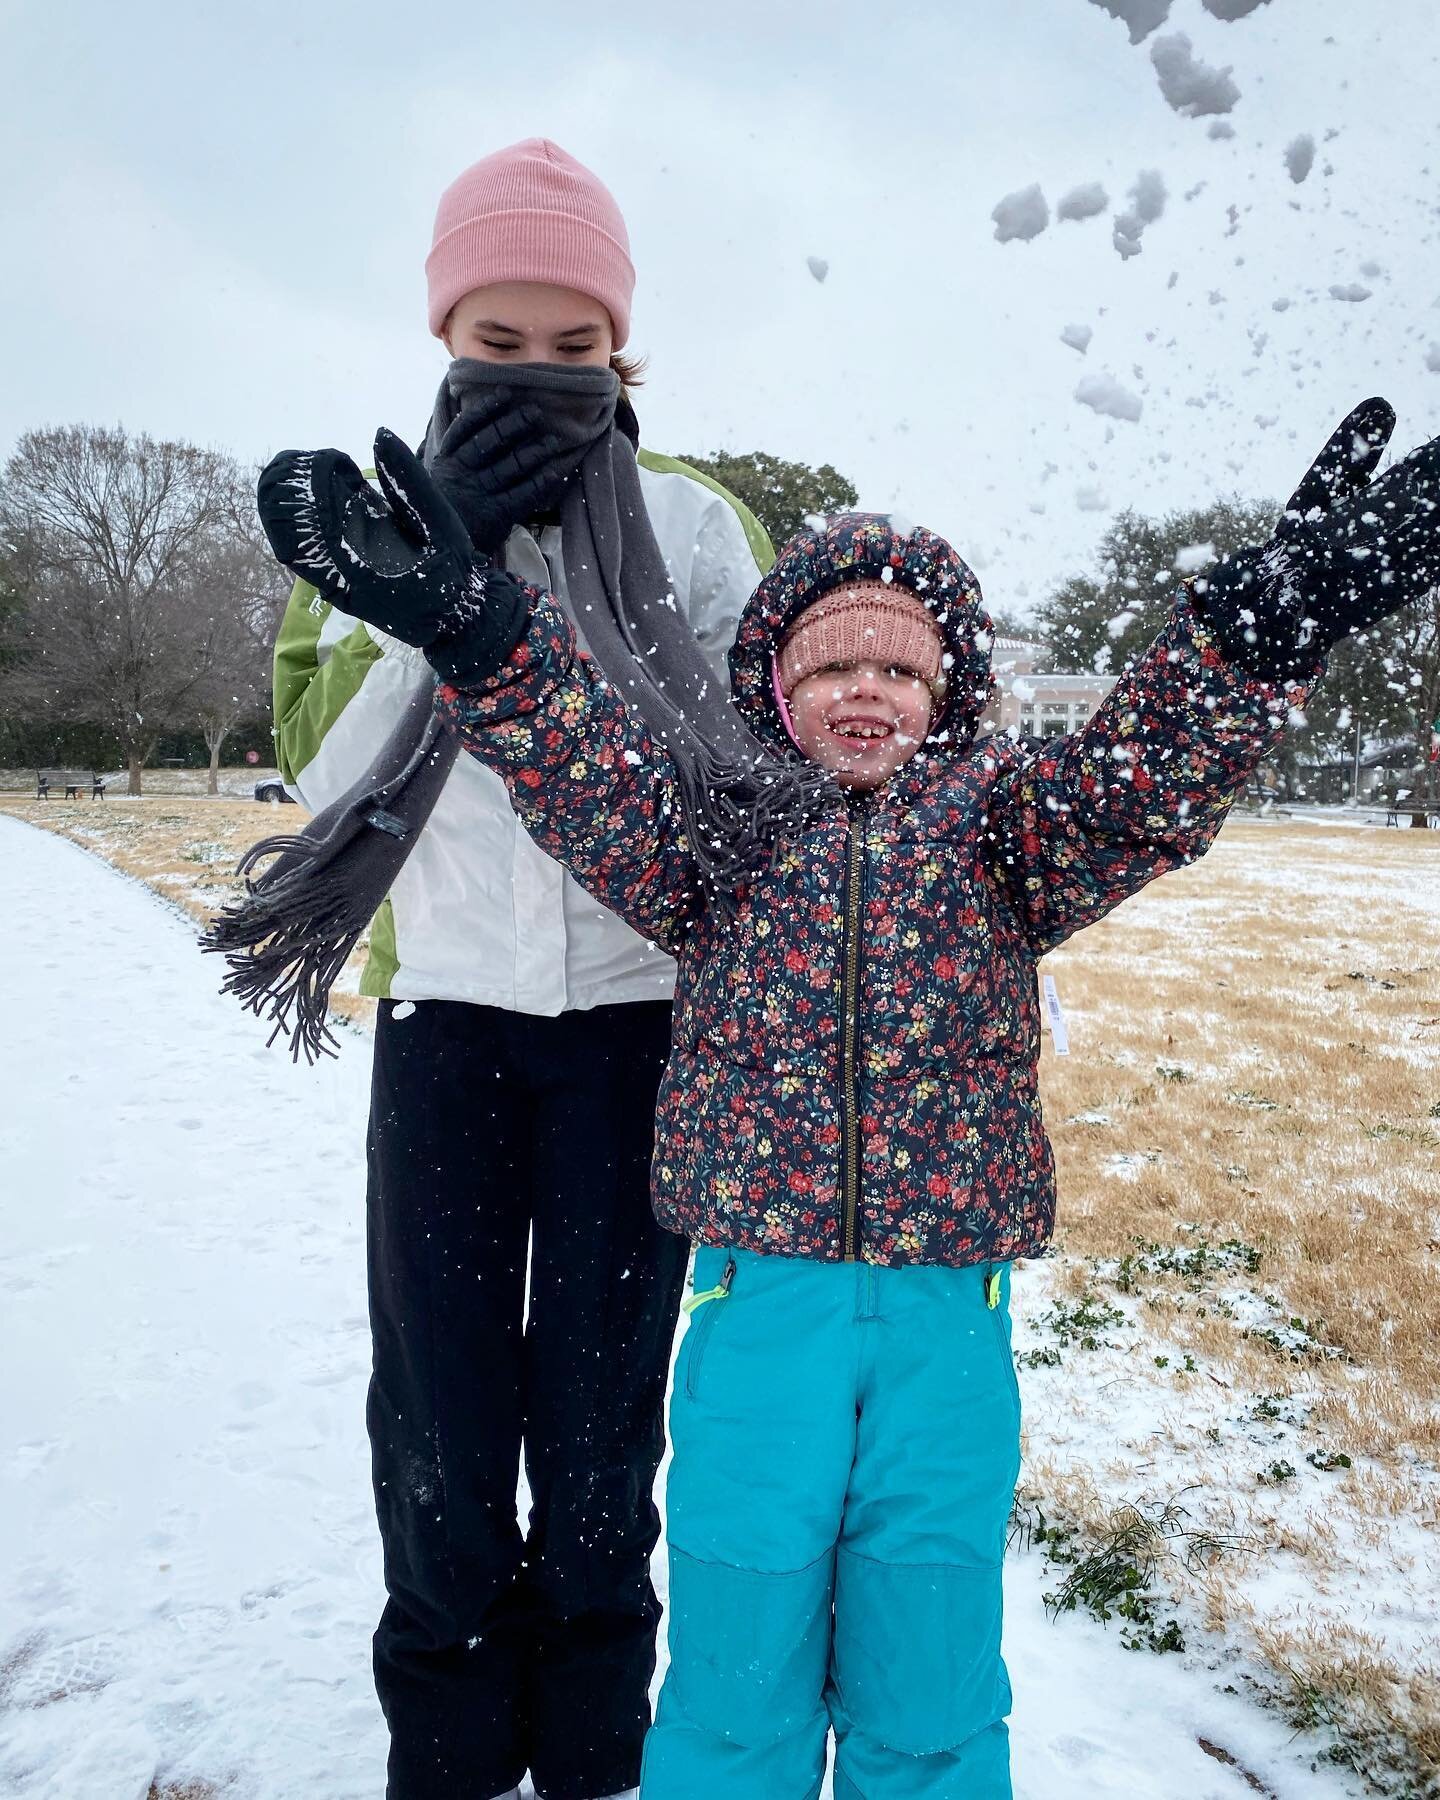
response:
<path id="1" fill-rule="evenodd" d="M 1440 437 L 1372 482 L 1395 409 L 1366 400 L 1296 488 L 1269 544 L 1210 574 L 1201 610 L 1226 657 L 1280 682 L 1440 581 Z"/>

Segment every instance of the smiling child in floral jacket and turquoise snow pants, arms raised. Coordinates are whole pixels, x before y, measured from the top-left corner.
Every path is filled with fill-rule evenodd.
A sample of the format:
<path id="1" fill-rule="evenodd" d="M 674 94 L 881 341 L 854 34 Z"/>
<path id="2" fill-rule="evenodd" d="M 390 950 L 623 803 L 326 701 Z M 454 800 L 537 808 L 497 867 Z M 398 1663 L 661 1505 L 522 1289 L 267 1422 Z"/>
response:
<path id="1" fill-rule="evenodd" d="M 1046 743 L 976 736 L 990 623 L 949 544 L 875 515 L 803 531 L 731 675 L 774 779 L 799 752 L 828 783 L 729 866 L 684 729 L 648 729 L 653 697 L 626 704 L 547 594 L 488 677 L 446 679 L 513 590 L 459 554 L 403 446 L 376 446 L 385 558 L 346 536 L 358 475 L 272 508 L 284 560 L 324 542 L 351 605 L 428 646 L 535 841 L 679 959 L 653 1199 L 698 1251 L 644 1800 L 814 1800 L 828 1730 L 842 1800 L 1010 1795 L 1008 1271 L 1055 1206 L 1035 965 L 1202 855 L 1328 644 L 1440 572 L 1440 441 L 1366 493 L 1390 421 L 1352 414 L 1271 544 L 1181 589 L 1089 725 Z"/>

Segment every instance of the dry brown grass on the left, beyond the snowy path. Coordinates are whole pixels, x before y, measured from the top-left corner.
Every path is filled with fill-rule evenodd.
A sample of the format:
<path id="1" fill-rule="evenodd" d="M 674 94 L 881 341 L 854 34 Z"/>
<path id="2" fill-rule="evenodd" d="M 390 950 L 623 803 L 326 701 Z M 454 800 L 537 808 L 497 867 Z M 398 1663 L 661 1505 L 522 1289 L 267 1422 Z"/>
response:
<path id="1" fill-rule="evenodd" d="M 140 799 L 121 794 L 104 801 L 36 801 L 32 792 L 0 794 L 0 814 L 92 850 L 196 922 L 207 920 L 236 893 L 236 864 L 256 839 L 299 832 L 310 817 L 302 806 L 257 806 L 203 794 Z M 374 1013 L 374 1001 L 355 992 L 364 963 L 362 940 L 331 995 L 331 1012 L 342 1019 L 364 1022 Z M 218 959 L 214 970 L 220 981 Z"/>

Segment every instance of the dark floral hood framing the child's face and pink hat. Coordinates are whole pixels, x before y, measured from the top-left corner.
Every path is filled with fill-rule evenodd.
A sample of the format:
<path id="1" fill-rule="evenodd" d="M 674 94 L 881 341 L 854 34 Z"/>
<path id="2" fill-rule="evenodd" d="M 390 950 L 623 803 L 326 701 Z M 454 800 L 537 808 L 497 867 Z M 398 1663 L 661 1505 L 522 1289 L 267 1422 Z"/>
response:
<path id="1" fill-rule="evenodd" d="M 945 700 L 922 751 L 965 745 L 994 693 L 994 628 L 970 565 L 923 526 L 902 531 L 886 513 L 837 513 L 797 531 L 776 556 L 740 617 L 731 646 L 731 695 L 749 729 L 794 751 L 776 702 L 776 655 L 806 607 L 848 581 L 895 581 L 925 607 L 945 643 Z"/>

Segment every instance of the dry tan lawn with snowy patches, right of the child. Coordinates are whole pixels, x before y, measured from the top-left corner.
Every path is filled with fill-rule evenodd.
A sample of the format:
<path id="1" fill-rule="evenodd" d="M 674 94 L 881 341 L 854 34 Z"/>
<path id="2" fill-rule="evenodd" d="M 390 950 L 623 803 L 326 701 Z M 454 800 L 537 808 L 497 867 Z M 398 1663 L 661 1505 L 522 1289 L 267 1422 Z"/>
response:
<path id="1" fill-rule="evenodd" d="M 1067 1361 L 1064 1411 L 1028 1433 L 1030 1492 L 1096 1541 L 1138 1489 L 1186 1489 L 1255 1548 L 1166 1568 L 1175 1604 L 1373 1791 L 1431 1793 L 1440 1676 L 1406 1625 L 1436 1616 L 1440 1535 L 1440 833 L 1231 824 L 1048 967 L 1073 1053 L 1042 1064 L 1046 1296 L 1123 1292 L 1145 1337 L 1107 1354 L 1154 1399 L 1076 1467 L 1107 1390 Z M 1138 1240 L 1201 1238 L 1258 1267 L 1118 1271 Z M 1246 1431 L 1256 1406 L 1280 1409 L 1273 1444 Z M 1352 1467 L 1316 1476 L 1310 1454 Z"/>

